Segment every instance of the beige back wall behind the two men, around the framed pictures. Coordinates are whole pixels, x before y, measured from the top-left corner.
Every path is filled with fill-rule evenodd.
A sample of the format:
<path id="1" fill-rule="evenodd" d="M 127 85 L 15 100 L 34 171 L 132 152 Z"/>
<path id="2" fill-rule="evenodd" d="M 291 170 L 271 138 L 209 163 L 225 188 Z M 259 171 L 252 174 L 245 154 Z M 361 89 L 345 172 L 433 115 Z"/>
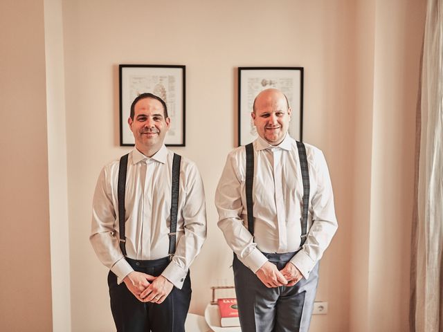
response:
<path id="1" fill-rule="evenodd" d="M 312 331 L 347 329 L 352 163 L 343 160 L 352 158 L 354 136 L 352 15 L 350 1 L 64 2 L 73 331 L 113 326 L 107 270 L 88 234 L 98 172 L 127 151 L 116 144 L 118 64 L 186 64 L 187 147 L 174 151 L 199 166 L 209 224 L 208 241 L 192 266 L 195 313 L 203 313 L 210 286 L 232 284 L 232 252 L 217 229 L 213 199 L 236 143 L 235 68 L 305 67 L 305 140 L 325 151 L 341 221 L 322 261 L 318 291 L 330 313 L 314 317 Z"/>

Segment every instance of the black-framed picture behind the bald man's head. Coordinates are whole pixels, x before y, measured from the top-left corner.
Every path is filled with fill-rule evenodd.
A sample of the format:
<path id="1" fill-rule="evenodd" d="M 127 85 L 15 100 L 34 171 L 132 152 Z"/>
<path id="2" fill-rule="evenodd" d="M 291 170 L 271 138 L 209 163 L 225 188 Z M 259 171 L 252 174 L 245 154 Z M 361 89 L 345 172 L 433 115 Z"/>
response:
<path id="1" fill-rule="evenodd" d="M 302 141 L 303 68 L 302 67 L 239 67 L 238 68 L 238 145 L 257 138 L 251 112 L 255 97 L 265 89 L 279 89 L 291 107 L 289 134 Z"/>

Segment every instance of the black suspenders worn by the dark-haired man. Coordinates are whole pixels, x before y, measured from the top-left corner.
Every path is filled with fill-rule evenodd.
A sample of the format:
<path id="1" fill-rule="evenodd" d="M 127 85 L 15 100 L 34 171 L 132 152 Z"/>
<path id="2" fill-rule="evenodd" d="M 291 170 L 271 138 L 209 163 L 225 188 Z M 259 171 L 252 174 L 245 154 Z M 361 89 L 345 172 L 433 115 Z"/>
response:
<path id="1" fill-rule="evenodd" d="M 126 236 L 125 236 L 125 189 L 126 189 L 126 170 L 127 170 L 127 154 L 120 158 L 120 166 L 118 167 L 118 225 L 120 232 L 120 250 L 126 256 Z M 175 241 L 177 234 L 177 213 L 179 208 L 179 183 L 180 183 L 180 163 L 181 156 L 174 154 L 172 160 L 172 199 L 171 199 L 171 225 L 169 233 L 169 252 L 170 259 L 175 253 Z"/>

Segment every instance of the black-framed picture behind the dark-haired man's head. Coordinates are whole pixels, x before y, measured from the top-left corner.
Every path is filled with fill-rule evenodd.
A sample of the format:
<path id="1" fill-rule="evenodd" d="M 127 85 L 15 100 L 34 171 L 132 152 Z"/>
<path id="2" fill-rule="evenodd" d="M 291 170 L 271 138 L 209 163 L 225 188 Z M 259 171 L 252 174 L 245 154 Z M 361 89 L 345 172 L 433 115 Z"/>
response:
<path id="1" fill-rule="evenodd" d="M 127 124 L 131 104 L 141 93 L 153 93 L 163 99 L 171 119 L 165 145 L 185 146 L 185 66 L 120 64 L 120 146 L 134 145 Z"/>

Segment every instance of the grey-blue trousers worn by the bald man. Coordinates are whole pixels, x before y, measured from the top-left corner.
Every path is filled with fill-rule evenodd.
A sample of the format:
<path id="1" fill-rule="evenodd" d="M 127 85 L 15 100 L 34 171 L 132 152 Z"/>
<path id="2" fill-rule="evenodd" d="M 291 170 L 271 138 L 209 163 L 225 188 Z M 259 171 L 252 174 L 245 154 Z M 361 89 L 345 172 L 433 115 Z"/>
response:
<path id="1" fill-rule="evenodd" d="M 264 255 L 281 270 L 295 252 Z M 267 288 L 237 255 L 234 255 L 233 270 L 243 332 L 309 331 L 318 285 L 318 263 L 308 279 L 302 278 L 290 287 Z"/>

